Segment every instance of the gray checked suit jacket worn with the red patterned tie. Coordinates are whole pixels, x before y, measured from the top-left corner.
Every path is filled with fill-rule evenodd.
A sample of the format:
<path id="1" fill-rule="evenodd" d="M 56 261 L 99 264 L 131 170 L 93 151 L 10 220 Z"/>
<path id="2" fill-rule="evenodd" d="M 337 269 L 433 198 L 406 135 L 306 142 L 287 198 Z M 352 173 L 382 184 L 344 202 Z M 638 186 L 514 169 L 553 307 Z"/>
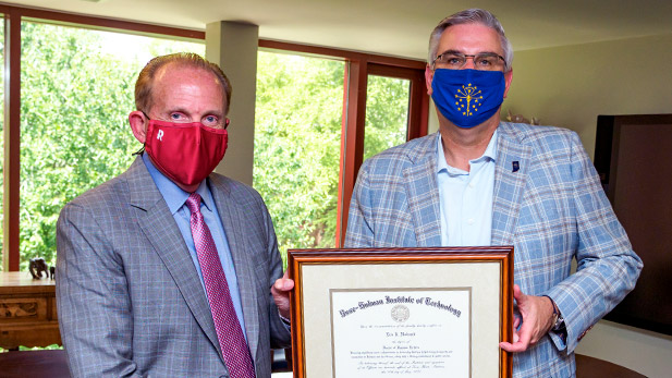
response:
<path id="1" fill-rule="evenodd" d="M 208 178 L 231 247 L 257 377 L 270 347 L 290 343 L 270 288 L 282 275 L 261 197 Z M 188 249 L 138 157 L 123 174 L 61 211 L 57 304 L 75 377 L 228 377 L 210 308 Z"/>

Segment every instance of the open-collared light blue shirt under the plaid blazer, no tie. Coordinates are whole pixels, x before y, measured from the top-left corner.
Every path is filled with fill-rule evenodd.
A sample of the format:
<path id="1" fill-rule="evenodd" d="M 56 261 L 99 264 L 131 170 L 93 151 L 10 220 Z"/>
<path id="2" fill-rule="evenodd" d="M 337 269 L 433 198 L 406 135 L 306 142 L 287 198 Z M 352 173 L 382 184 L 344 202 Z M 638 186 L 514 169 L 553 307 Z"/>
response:
<path id="1" fill-rule="evenodd" d="M 441 204 L 441 245 L 490 245 L 497 131 L 484 155 L 469 160 L 469 171 L 445 161 L 441 134 L 437 137 L 437 183 Z"/>

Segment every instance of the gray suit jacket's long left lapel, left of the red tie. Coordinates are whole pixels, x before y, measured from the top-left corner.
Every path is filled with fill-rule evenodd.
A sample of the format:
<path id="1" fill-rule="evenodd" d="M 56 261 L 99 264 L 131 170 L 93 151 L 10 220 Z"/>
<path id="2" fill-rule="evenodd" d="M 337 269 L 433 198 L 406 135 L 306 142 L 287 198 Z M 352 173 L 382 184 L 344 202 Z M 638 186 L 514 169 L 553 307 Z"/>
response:
<path id="1" fill-rule="evenodd" d="M 138 209 L 139 229 L 166 265 L 194 318 L 210 342 L 219 350 L 210 306 L 182 233 L 168 205 L 140 157 L 135 159 L 127 173 L 130 203 Z"/>

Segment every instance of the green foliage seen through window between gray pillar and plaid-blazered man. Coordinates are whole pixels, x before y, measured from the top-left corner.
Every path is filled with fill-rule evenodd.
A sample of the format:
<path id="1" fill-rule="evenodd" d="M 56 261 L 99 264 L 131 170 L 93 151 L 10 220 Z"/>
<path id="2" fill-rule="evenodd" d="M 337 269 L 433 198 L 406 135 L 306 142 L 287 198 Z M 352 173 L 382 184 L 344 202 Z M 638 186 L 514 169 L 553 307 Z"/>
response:
<path id="1" fill-rule="evenodd" d="M 334 245 L 344 63 L 259 52 L 254 186 L 288 248 Z"/>

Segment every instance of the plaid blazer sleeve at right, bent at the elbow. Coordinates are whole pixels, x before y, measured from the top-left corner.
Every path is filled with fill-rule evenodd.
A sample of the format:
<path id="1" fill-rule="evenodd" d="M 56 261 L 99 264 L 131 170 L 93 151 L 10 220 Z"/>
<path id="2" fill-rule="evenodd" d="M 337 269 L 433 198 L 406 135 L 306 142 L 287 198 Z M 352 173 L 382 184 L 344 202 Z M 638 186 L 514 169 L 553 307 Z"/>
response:
<path id="1" fill-rule="evenodd" d="M 567 353 L 635 288 L 643 267 L 578 135 L 572 133 L 570 139 L 577 270 L 548 292 L 564 317 L 566 344 L 559 334 L 551 332 L 551 338 L 559 349 L 566 347 Z"/>

